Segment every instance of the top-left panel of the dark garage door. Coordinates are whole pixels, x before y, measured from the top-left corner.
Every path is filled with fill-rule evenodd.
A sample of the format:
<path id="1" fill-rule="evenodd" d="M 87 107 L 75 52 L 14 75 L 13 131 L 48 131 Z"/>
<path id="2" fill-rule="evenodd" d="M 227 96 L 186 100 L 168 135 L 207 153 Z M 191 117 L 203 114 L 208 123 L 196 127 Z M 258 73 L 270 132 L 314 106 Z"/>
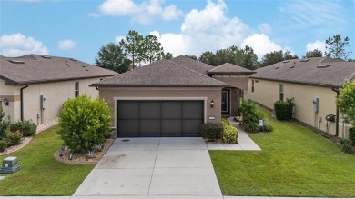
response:
<path id="1" fill-rule="evenodd" d="M 122 101 L 117 103 L 118 119 L 138 119 L 139 103 L 135 101 Z"/>

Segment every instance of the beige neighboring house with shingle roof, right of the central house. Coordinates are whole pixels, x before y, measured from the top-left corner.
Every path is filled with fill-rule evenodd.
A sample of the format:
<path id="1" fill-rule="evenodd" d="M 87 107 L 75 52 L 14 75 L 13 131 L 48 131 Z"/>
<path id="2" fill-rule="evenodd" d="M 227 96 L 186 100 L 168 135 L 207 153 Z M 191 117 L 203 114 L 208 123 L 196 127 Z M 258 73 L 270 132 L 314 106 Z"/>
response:
<path id="1" fill-rule="evenodd" d="M 330 57 L 295 59 L 256 71 L 249 79 L 251 100 L 273 109 L 276 101 L 293 97 L 295 119 L 320 131 L 347 137 L 350 126 L 340 118 L 335 99 L 344 81 L 354 80 L 354 62 Z"/>

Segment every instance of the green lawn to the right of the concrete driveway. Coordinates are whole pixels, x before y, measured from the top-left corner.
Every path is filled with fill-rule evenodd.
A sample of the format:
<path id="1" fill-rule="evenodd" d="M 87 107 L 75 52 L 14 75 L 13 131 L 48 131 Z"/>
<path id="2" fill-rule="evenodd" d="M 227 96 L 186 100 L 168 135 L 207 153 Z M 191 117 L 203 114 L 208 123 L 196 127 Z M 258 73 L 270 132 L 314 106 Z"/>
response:
<path id="1" fill-rule="evenodd" d="M 355 196 L 354 155 L 302 125 L 269 120 L 273 132 L 249 134 L 262 151 L 209 152 L 223 195 Z"/>

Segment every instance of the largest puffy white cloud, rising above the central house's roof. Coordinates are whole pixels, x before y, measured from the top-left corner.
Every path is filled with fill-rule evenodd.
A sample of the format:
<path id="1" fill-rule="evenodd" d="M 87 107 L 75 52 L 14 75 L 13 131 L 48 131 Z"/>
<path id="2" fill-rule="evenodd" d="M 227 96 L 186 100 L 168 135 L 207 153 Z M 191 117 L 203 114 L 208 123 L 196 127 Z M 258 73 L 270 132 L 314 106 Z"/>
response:
<path id="1" fill-rule="evenodd" d="M 199 56 L 205 51 L 239 45 L 251 30 L 237 17 L 228 18 L 226 11 L 227 6 L 222 0 L 217 3 L 208 1 L 203 10 L 193 9 L 185 15 L 180 33 L 154 33 L 164 50 L 174 56 Z"/>

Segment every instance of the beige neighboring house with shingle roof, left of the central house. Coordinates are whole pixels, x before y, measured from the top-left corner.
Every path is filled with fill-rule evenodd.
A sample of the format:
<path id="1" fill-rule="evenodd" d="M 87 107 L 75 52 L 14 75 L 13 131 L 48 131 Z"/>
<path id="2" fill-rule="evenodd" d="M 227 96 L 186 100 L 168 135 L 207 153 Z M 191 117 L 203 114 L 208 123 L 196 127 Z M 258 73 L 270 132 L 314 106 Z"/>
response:
<path id="1" fill-rule="evenodd" d="M 96 88 L 88 85 L 113 75 L 117 73 L 73 58 L 0 56 L 0 106 L 12 121 L 47 124 L 69 98 L 98 97 Z"/>

